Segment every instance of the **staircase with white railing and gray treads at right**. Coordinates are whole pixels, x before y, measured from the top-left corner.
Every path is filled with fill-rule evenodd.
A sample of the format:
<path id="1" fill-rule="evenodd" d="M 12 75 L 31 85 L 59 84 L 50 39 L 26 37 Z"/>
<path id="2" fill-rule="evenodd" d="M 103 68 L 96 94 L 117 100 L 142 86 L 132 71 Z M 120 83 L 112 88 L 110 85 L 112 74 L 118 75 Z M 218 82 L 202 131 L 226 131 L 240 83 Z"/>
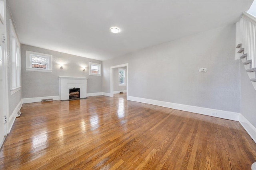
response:
<path id="1" fill-rule="evenodd" d="M 256 17 L 248 12 L 236 23 L 236 59 L 241 59 L 256 90 Z"/>

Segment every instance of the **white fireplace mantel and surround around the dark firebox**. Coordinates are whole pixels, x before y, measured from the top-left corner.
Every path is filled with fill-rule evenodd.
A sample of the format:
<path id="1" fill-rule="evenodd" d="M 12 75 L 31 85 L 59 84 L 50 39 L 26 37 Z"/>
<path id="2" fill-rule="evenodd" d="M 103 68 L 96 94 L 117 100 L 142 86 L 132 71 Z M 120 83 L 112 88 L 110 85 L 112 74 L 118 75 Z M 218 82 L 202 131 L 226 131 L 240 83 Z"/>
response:
<path id="1" fill-rule="evenodd" d="M 69 99 L 70 88 L 80 88 L 80 98 L 86 98 L 87 77 L 59 76 L 60 79 L 60 100 Z"/>

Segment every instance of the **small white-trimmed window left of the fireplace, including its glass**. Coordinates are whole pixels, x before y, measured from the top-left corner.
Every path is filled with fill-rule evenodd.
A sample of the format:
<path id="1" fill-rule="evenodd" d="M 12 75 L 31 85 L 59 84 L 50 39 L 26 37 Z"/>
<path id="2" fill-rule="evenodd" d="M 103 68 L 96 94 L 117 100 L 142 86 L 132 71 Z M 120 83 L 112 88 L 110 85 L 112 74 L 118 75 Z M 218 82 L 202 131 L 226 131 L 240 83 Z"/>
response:
<path id="1" fill-rule="evenodd" d="M 52 72 L 52 55 L 26 51 L 26 71 Z"/>

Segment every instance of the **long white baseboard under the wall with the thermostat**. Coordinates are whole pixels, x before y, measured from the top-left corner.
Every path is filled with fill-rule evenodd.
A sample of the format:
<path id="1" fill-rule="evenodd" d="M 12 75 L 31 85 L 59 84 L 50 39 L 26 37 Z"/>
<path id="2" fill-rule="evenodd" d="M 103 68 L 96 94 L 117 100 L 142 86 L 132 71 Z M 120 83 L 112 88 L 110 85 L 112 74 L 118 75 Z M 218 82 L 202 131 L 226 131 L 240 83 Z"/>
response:
<path id="1" fill-rule="evenodd" d="M 127 100 L 238 121 L 240 113 L 128 96 Z M 214 115 L 216 113 L 216 115 Z"/>

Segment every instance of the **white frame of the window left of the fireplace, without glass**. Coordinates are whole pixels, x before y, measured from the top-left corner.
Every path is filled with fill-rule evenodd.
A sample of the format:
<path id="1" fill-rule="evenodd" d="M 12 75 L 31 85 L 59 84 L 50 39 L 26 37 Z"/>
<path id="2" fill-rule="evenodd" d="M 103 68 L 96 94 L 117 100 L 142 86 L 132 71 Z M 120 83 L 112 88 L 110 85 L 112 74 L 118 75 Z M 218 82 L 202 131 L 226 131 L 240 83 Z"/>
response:
<path id="1" fill-rule="evenodd" d="M 36 62 L 32 62 L 32 56 L 46 58 L 47 59 L 46 69 L 33 68 L 32 63 L 36 63 Z M 52 72 L 52 55 L 36 53 L 33 51 L 26 51 L 26 71 Z"/>

